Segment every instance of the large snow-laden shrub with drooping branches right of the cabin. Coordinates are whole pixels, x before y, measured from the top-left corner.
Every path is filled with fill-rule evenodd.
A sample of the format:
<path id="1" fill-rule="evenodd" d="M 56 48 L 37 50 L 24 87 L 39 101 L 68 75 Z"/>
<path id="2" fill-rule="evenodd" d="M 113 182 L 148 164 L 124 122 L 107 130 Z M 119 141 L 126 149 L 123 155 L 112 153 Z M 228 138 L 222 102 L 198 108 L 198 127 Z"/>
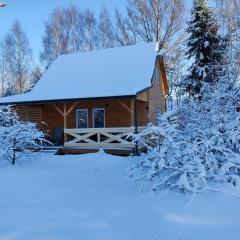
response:
<path id="1" fill-rule="evenodd" d="M 147 148 L 131 172 L 142 187 L 190 194 L 225 184 L 240 189 L 240 91 L 224 81 L 203 91 L 201 100 L 186 98 L 135 136 Z"/>

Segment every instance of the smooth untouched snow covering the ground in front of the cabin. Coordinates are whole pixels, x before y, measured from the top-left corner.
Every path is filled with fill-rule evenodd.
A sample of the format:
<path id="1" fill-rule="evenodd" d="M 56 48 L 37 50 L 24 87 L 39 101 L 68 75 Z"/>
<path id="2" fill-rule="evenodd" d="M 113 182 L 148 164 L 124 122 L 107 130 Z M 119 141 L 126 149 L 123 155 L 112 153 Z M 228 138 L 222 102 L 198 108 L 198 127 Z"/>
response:
<path id="1" fill-rule="evenodd" d="M 0 166 L 0 240 L 237 240 L 240 199 L 139 193 L 135 157 L 40 155 Z"/>

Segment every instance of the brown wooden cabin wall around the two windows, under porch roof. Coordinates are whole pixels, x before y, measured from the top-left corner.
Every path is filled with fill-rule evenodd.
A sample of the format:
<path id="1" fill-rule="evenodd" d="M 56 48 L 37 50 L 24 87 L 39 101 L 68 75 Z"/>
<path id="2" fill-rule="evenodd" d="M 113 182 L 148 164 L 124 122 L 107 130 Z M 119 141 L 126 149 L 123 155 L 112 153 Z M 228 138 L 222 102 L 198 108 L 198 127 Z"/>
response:
<path id="1" fill-rule="evenodd" d="M 76 128 L 76 110 L 88 109 L 88 127 L 92 128 L 92 111 L 94 108 L 105 109 L 105 127 L 131 127 L 134 126 L 134 99 L 114 99 L 97 101 L 79 101 L 66 103 L 66 109 L 74 108 L 67 116 L 67 128 Z M 54 106 L 55 105 L 55 106 Z M 63 116 L 56 109 L 64 111 L 64 103 L 39 104 L 17 106 L 16 110 L 24 121 L 37 123 L 40 129 L 52 134 L 54 128 L 63 128 Z M 137 101 L 138 126 L 146 126 L 148 123 L 148 102 Z"/>

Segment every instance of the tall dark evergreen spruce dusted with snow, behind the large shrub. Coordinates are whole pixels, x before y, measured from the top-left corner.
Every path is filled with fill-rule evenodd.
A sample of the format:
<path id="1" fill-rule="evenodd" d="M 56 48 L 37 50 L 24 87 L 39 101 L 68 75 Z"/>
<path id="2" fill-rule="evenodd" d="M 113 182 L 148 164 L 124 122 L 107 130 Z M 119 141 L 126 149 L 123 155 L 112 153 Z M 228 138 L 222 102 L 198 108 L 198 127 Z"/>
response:
<path id="1" fill-rule="evenodd" d="M 207 0 L 194 0 L 192 18 L 187 28 L 187 55 L 193 63 L 184 85 L 193 96 L 201 95 L 203 82 L 216 82 L 222 70 L 219 63 L 224 45 L 221 44 L 214 12 L 207 3 Z"/>

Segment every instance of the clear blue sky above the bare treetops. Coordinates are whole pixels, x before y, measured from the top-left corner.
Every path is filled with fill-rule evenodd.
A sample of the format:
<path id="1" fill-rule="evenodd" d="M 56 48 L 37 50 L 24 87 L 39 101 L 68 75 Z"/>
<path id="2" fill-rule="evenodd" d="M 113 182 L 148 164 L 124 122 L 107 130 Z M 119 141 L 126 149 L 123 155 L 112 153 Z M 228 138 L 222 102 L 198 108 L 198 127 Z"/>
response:
<path id="1" fill-rule="evenodd" d="M 15 20 L 19 20 L 26 32 L 31 48 L 34 51 L 34 59 L 38 62 L 41 51 L 41 38 L 44 31 L 44 22 L 49 14 L 58 6 L 74 4 L 81 9 L 87 7 L 99 11 L 105 5 L 109 9 L 115 6 L 124 8 L 126 0 L 0 0 L 7 3 L 0 9 L 0 36 L 2 37 Z M 171 0 L 170 0 L 171 1 Z M 191 0 L 187 0 L 191 1 Z M 188 4 L 188 7 L 190 3 Z"/>

